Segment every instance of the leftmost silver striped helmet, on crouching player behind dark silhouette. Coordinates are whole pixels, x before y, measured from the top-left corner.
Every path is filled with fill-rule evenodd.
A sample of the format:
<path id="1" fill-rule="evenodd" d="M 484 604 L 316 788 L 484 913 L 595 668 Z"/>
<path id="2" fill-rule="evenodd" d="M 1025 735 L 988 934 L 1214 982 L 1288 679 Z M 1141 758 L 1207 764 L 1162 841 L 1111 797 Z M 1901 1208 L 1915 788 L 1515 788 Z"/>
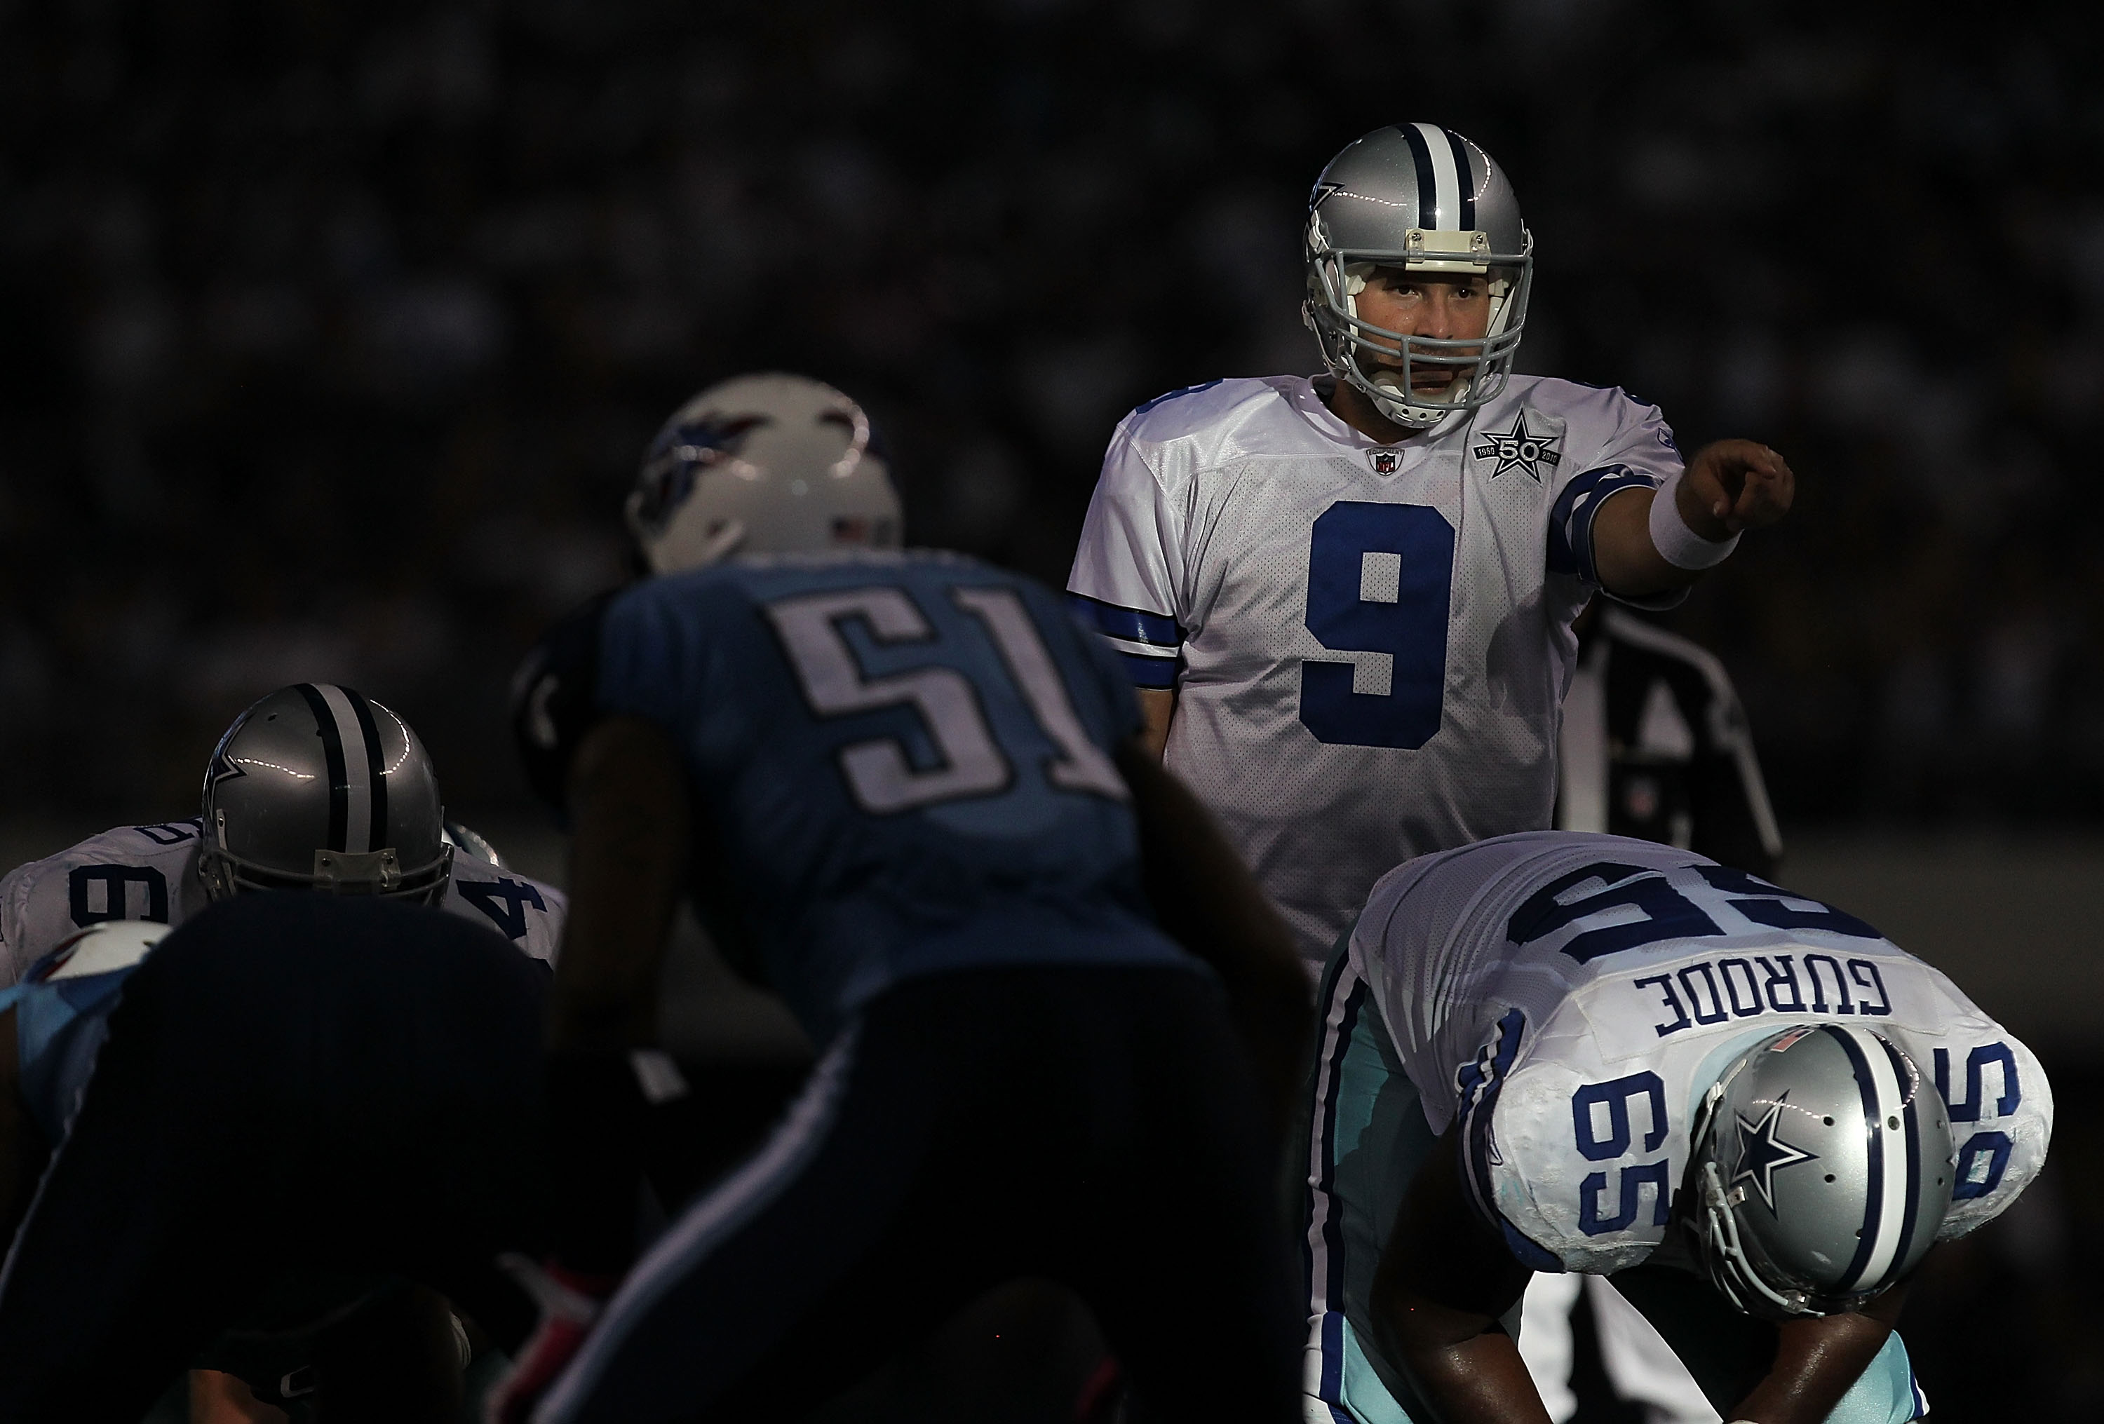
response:
<path id="1" fill-rule="evenodd" d="M 204 772 L 198 875 L 244 890 L 335 890 L 438 904 L 452 875 L 423 742 L 351 688 L 278 688 L 219 738 Z"/>

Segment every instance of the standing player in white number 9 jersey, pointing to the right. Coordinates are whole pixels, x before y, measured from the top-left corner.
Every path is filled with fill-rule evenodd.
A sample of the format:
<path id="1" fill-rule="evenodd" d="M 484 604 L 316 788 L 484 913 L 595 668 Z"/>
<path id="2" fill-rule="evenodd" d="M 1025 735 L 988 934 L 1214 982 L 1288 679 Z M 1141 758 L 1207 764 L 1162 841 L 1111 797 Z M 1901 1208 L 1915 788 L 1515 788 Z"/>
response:
<path id="1" fill-rule="evenodd" d="M 1793 477 L 1746 440 L 1683 465 L 1654 406 L 1513 374 L 1534 240 L 1448 128 L 1338 154 L 1302 255 L 1328 374 L 1126 416 L 1067 587 L 1319 974 L 1397 860 L 1551 825 L 1586 599 L 1679 599 Z"/>

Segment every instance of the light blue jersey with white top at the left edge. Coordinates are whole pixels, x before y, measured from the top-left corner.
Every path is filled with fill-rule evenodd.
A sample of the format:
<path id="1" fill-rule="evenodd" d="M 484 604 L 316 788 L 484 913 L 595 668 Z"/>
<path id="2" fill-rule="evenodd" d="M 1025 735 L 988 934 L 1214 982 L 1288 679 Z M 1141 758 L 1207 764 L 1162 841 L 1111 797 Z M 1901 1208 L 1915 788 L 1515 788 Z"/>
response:
<path id="1" fill-rule="evenodd" d="M 0 989 L 0 1014 L 15 1010 L 21 1098 L 44 1142 L 57 1146 L 65 1136 L 109 1035 L 109 1010 L 164 934 L 168 925 L 107 921 L 72 936 L 21 982 Z"/>

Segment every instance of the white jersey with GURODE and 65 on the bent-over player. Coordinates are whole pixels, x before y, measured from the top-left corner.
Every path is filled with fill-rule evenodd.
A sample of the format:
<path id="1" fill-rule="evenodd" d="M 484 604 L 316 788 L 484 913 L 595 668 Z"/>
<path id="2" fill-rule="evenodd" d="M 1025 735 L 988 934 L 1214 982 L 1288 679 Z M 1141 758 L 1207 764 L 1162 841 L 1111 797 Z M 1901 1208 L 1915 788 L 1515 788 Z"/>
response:
<path id="1" fill-rule="evenodd" d="M 1793 1022 L 1873 1029 L 1934 1077 L 1959 1153 L 1940 1239 L 2045 1163 L 2054 1096 L 2024 1043 L 1860 919 L 1687 850 L 1530 833 L 1427 856 L 1382 877 L 1347 953 L 1431 1130 L 1466 1119 L 1477 1207 L 1555 1258 L 1538 1268 L 1650 1256 L 1692 1111 Z"/>

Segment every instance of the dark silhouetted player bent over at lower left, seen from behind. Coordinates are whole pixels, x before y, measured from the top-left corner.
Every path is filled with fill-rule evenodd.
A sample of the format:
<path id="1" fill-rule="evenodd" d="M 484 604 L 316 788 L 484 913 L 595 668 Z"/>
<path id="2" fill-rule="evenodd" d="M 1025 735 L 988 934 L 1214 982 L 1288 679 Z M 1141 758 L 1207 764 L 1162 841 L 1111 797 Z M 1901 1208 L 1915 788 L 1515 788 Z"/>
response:
<path id="1" fill-rule="evenodd" d="M 0 991 L 0 1418 L 139 1420 L 210 1346 L 297 1418 L 450 1424 L 446 1302 L 503 1346 L 534 1319 L 497 1258 L 545 1243 L 547 986 L 366 894 L 67 936 Z M 375 1319 L 385 1371 L 343 1348 Z"/>

